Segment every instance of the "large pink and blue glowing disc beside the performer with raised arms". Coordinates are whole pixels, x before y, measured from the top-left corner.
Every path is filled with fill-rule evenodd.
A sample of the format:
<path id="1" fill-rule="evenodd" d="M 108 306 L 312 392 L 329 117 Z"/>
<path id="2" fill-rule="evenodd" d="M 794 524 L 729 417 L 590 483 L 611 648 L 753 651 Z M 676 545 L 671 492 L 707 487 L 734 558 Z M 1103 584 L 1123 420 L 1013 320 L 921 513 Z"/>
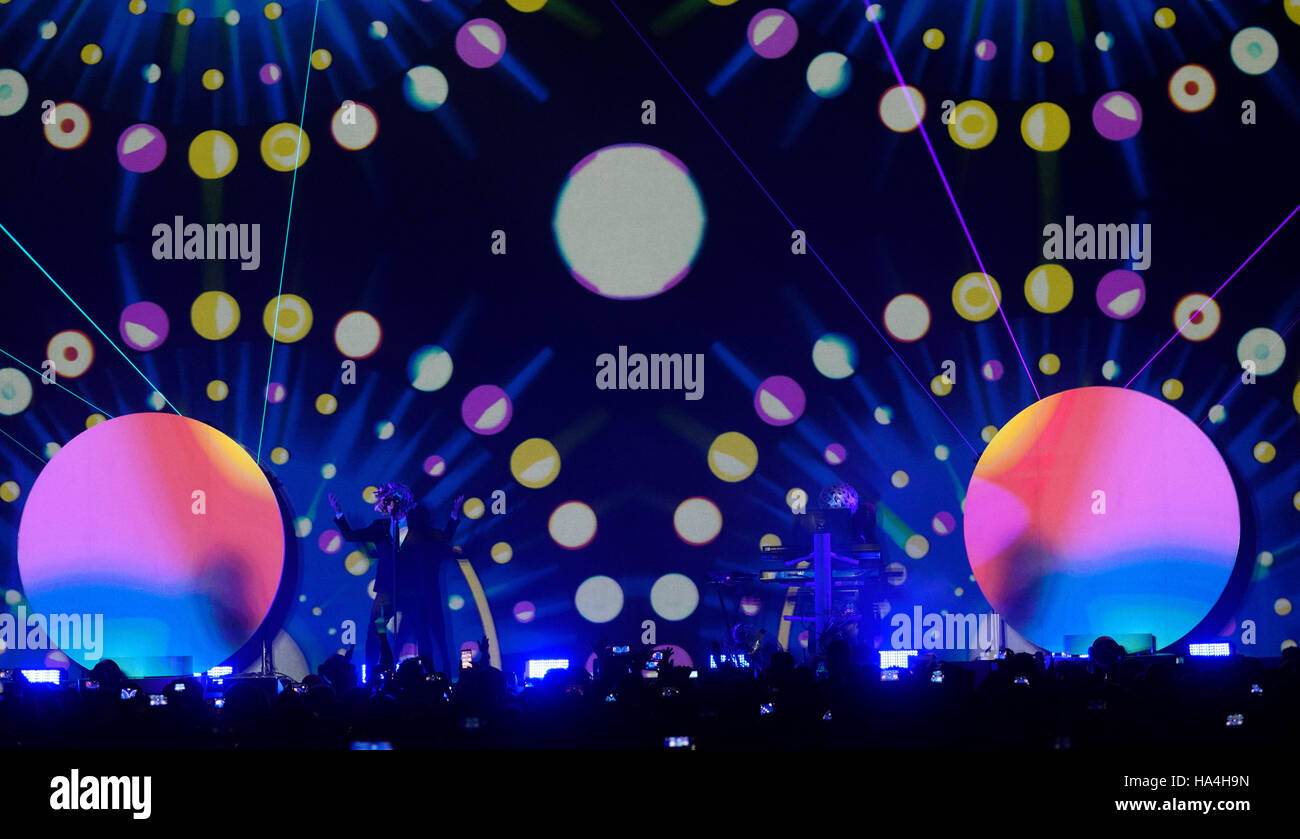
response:
<path id="1" fill-rule="evenodd" d="M 239 444 L 198 420 L 99 423 L 36 476 L 18 528 L 42 614 L 103 614 L 103 658 L 221 663 L 257 630 L 285 562 L 280 506 Z M 83 644 L 84 646 L 84 644 Z M 94 650 L 68 649 L 94 666 Z"/>

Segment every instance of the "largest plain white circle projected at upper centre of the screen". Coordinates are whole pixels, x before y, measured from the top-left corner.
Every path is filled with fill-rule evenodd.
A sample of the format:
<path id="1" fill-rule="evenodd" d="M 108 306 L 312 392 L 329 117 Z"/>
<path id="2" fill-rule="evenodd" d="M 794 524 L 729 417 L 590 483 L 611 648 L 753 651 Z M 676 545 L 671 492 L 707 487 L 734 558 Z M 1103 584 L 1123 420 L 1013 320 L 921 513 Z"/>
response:
<path id="1" fill-rule="evenodd" d="M 582 287 L 638 300 L 690 271 L 705 238 L 705 204 L 690 172 L 664 150 L 606 146 L 569 172 L 551 226 Z"/>

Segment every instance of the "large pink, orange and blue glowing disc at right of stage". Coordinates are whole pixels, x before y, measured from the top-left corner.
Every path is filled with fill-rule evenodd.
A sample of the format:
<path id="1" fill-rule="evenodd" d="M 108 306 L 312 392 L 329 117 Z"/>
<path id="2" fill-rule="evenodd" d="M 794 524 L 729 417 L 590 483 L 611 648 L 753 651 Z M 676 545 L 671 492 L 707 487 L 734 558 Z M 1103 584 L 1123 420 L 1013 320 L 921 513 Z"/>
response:
<path id="1" fill-rule="evenodd" d="M 1236 490 L 1196 423 L 1123 388 L 1078 388 L 1017 414 L 980 457 L 966 550 L 993 609 L 1030 641 L 1187 635 L 1223 593 Z"/>

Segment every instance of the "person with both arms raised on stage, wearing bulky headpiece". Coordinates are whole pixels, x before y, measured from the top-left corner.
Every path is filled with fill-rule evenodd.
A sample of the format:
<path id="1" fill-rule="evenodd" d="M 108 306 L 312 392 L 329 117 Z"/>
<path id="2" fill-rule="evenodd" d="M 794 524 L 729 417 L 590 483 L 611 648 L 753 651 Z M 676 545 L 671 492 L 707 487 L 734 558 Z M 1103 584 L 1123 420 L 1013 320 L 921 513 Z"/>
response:
<path id="1" fill-rule="evenodd" d="M 459 557 L 459 549 L 451 546 L 451 535 L 460 523 L 464 499 L 464 496 L 455 499 L 447 526 L 437 529 L 408 486 L 387 483 L 378 488 L 374 502 L 374 511 L 384 518 L 354 528 L 347 523 L 338 498 L 334 493 L 329 494 L 334 522 L 343 539 L 372 542 L 378 553 L 374 602 L 365 632 L 365 663 L 372 670 L 391 670 L 395 663 L 394 645 L 400 653 L 403 644 L 410 643 L 420 654 L 433 658 L 436 666 L 452 673 L 438 576 L 442 561 Z M 387 624 L 391 618 L 396 620 L 395 639 L 390 643 Z"/>

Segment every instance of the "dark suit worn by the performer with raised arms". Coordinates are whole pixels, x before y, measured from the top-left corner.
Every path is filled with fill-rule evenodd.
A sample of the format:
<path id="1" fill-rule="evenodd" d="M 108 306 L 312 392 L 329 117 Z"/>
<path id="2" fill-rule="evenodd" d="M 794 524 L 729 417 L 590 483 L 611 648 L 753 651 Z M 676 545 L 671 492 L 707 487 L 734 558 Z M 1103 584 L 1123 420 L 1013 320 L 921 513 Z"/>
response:
<path id="1" fill-rule="evenodd" d="M 343 539 L 373 542 L 378 552 L 374 604 L 365 633 L 365 663 L 370 669 L 389 663 L 382 661 L 380 624 L 387 623 L 394 613 L 400 613 L 396 635 L 389 639 L 393 650 L 400 653 L 404 643 L 413 641 L 421 656 L 428 654 L 438 669 L 452 673 L 439 578 L 443 562 L 456 558 L 451 550 L 451 535 L 459 519 L 448 519 L 439 531 L 429 524 L 426 511 L 417 506 L 407 515 L 406 539 L 399 539 L 396 523 L 387 518 L 361 528 L 350 527 L 342 514 L 334 516 L 334 522 Z"/>

